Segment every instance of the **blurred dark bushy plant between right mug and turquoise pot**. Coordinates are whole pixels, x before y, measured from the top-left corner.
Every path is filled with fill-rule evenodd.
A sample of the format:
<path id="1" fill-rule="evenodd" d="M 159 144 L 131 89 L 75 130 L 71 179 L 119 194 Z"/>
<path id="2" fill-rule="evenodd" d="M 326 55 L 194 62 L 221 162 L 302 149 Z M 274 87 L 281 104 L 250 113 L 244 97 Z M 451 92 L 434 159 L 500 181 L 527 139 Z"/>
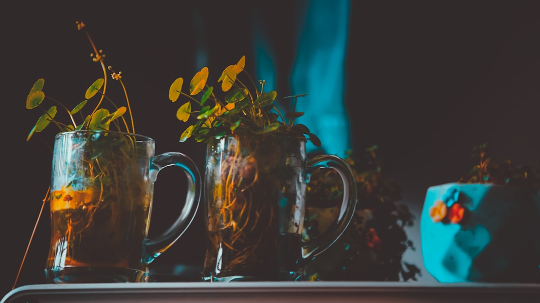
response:
<path id="1" fill-rule="evenodd" d="M 397 203 L 401 188 L 384 173 L 377 146 L 360 154 L 347 150 L 344 159 L 356 176 L 356 211 L 338 241 L 306 266 L 307 276 L 311 280 L 417 280 L 420 269 L 402 258 L 406 250 L 415 250 L 406 232 L 415 217 L 407 205 Z M 342 195 L 334 171 L 320 169 L 311 176 L 305 239 L 316 237 L 334 222 Z"/>

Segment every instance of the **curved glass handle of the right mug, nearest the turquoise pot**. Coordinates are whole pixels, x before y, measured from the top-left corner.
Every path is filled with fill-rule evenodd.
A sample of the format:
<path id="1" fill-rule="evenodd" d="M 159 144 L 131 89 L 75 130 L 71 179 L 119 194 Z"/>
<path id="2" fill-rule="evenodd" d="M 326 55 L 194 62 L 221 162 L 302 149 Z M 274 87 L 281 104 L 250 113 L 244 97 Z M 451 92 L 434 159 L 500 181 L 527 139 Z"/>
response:
<path id="1" fill-rule="evenodd" d="M 332 224 L 328 230 L 322 232 L 319 236 L 308 241 L 302 241 L 303 259 L 315 257 L 334 244 L 349 225 L 356 208 L 356 177 L 349 164 L 338 156 L 328 154 L 314 156 L 312 159 L 308 159 L 306 163 L 308 175 L 321 167 L 334 169 L 340 175 L 343 181 L 343 201 L 341 202 L 336 224 Z"/>

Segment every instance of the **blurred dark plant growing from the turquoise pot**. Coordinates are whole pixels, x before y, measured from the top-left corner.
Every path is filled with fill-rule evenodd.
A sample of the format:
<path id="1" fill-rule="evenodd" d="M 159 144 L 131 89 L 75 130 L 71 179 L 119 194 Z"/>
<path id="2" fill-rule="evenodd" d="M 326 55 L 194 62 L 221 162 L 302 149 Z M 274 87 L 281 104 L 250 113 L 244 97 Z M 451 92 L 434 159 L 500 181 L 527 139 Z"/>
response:
<path id="1" fill-rule="evenodd" d="M 487 143 L 473 148 L 472 158 L 480 163 L 465 173 L 457 183 L 492 183 L 540 190 L 540 168 L 515 166 L 510 160 L 499 161 L 489 155 Z"/>

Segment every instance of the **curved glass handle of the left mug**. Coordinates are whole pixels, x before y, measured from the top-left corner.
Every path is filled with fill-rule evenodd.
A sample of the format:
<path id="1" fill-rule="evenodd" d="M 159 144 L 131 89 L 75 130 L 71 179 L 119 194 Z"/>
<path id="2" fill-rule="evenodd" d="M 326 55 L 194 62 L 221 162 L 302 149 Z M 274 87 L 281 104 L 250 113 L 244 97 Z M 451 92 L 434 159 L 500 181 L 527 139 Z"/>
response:
<path id="1" fill-rule="evenodd" d="M 151 263 L 183 235 L 193 221 L 199 207 L 201 177 L 199 169 L 190 157 L 178 152 L 157 155 L 150 161 L 150 182 L 152 184 L 156 182 L 161 169 L 169 166 L 176 166 L 184 170 L 187 176 L 186 200 L 180 216 L 167 230 L 152 239 L 145 239 L 142 259 L 145 264 Z"/>

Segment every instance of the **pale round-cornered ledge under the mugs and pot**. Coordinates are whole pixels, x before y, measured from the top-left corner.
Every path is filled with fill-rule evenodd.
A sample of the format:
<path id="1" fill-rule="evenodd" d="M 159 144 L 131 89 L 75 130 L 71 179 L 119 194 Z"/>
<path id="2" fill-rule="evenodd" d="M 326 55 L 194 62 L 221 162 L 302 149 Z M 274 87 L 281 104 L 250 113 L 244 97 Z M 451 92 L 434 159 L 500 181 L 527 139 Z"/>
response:
<path id="1" fill-rule="evenodd" d="M 157 282 L 25 285 L 0 303 L 48 302 L 540 302 L 540 284 L 408 282 Z"/>

